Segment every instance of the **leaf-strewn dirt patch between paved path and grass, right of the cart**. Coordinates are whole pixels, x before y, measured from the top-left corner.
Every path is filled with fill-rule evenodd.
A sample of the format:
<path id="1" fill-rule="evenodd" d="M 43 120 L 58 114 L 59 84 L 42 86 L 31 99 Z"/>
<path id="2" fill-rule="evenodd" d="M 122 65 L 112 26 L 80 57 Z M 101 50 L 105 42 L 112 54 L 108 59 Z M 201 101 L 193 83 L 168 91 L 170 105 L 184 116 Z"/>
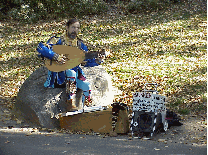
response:
<path id="1" fill-rule="evenodd" d="M 172 126 L 165 133 L 158 133 L 154 140 L 183 143 L 188 145 L 207 145 L 206 114 L 201 116 L 185 116 L 182 126 Z"/>

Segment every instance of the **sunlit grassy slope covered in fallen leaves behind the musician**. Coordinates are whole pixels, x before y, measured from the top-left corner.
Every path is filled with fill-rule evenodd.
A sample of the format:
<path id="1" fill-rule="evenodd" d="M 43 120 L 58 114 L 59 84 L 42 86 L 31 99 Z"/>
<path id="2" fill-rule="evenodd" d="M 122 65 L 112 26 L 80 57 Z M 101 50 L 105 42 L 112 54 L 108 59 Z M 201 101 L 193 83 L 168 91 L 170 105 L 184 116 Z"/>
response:
<path id="1" fill-rule="evenodd" d="M 80 37 L 110 54 L 103 66 L 122 94 L 115 101 L 132 104 L 132 93 L 158 83 L 171 109 L 206 113 L 207 19 L 198 4 L 176 4 L 149 14 L 126 14 L 113 6 L 105 15 L 83 16 Z M 38 42 L 62 34 L 67 19 L 21 24 L 0 23 L 0 101 L 12 108 L 27 77 L 43 65 Z"/>

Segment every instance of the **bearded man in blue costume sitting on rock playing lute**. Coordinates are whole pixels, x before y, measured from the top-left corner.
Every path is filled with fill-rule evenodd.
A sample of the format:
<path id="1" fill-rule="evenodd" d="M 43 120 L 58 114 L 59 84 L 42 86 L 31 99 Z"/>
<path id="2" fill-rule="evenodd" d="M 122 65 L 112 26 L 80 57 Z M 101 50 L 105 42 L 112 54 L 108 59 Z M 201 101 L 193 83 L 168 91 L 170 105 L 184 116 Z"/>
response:
<path id="1" fill-rule="evenodd" d="M 61 37 L 52 37 L 47 42 L 48 48 L 51 48 L 51 45 L 67 45 L 72 47 L 77 47 L 84 52 L 88 52 L 87 46 L 83 43 L 81 39 L 77 37 L 80 31 L 80 23 L 76 18 L 69 19 L 66 23 L 66 33 Z M 66 57 L 61 56 L 54 51 L 42 50 L 41 48 L 37 48 L 37 51 L 41 53 L 41 57 L 46 57 L 51 60 L 57 61 L 59 64 L 64 64 L 66 61 Z M 71 92 L 68 94 L 68 102 L 69 106 L 67 111 L 75 111 L 83 108 L 84 102 L 86 99 L 90 100 L 90 84 L 85 81 L 86 77 L 84 72 L 79 66 L 76 66 L 72 69 L 67 69 L 65 71 L 60 72 L 52 72 L 48 70 L 48 77 L 44 86 L 47 88 L 65 88 L 67 84 L 70 83 L 70 87 L 75 87 L 76 92 Z M 69 91 L 69 90 L 67 90 Z M 76 101 L 76 94 L 79 94 L 81 99 L 80 101 Z M 81 95 L 80 95 L 81 94 Z M 83 94 L 83 95 L 82 95 Z M 82 103 L 82 104 L 80 104 Z"/>

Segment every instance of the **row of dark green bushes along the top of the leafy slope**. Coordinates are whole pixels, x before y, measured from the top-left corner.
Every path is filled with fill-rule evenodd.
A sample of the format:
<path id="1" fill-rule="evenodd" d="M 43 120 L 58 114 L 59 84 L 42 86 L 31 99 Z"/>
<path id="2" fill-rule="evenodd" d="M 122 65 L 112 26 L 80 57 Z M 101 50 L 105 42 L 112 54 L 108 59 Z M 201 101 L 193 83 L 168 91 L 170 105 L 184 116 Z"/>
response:
<path id="1" fill-rule="evenodd" d="M 120 4 L 126 12 L 157 11 L 179 0 L 5 0 L 0 3 L 0 20 L 10 18 L 23 22 L 40 19 L 100 14 L 108 10 L 107 2 Z"/>

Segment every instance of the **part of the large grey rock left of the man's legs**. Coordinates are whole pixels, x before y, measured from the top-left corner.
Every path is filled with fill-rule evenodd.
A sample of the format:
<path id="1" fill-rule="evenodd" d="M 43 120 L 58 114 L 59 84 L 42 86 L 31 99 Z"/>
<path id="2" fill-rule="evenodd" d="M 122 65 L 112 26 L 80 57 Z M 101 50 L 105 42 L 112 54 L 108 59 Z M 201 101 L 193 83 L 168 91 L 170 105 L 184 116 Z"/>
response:
<path id="1" fill-rule="evenodd" d="M 17 94 L 16 114 L 26 122 L 47 128 L 59 127 L 55 118 L 59 108 L 65 111 L 66 92 L 63 88 L 45 88 L 48 70 L 40 67 L 25 80 Z"/>

